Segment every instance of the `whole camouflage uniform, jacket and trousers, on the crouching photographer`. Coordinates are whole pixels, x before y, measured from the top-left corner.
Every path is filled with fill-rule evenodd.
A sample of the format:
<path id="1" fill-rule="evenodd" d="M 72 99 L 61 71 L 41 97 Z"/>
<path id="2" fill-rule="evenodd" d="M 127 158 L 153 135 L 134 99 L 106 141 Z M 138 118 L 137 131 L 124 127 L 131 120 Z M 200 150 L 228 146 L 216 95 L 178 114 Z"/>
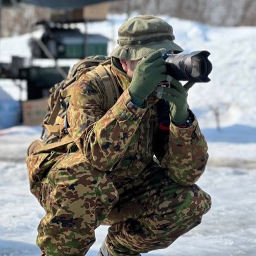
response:
<path id="1" fill-rule="evenodd" d="M 111 225 L 105 243 L 112 255 L 166 248 L 211 207 L 195 184 L 208 157 L 196 118 L 187 128 L 171 122 L 161 131 L 156 99 L 137 108 L 127 89 L 131 78 L 116 65 L 111 71 L 122 92 L 115 105 L 102 111 L 99 84 L 85 74 L 68 108 L 76 144 L 67 154 L 37 156 L 35 168 L 47 170 L 32 188 L 46 211 L 37 237 L 42 255 L 82 256 L 104 224 Z"/>

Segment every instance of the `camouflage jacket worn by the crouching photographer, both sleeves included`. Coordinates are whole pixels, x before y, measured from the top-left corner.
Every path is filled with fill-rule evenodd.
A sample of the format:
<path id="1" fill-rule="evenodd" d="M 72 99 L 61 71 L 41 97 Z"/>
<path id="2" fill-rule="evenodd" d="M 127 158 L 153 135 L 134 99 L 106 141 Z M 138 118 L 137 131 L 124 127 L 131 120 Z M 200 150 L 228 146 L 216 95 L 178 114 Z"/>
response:
<path id="1" fill-rule="evenodd" d="M 106 113 L 90 72 L 79 79 L 70 98 L 68 132 L 85 161 L 93 168 L 111 172 L 116 179 L 135 179 L 155 155 L 175 182 L 183 186 L 195 183 L 208 158 L 207 143 L 196 118 L 188 128 L 171 123 L 168 135 L 159 140 L 156 104 L 145 109 L 134 106 L 127 89 L 131 79 L 114 66 L 111 70 L 122 94 Z M 157 148 L 161 148 L 161 154 Z"/>

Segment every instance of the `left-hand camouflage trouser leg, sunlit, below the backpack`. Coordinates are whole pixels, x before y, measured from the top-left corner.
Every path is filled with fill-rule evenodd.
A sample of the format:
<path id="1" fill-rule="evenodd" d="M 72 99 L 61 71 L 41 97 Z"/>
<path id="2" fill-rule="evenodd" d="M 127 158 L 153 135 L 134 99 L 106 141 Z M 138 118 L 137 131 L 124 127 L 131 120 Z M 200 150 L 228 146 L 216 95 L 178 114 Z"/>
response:
<path id="1" fill-rule="evenodd" d="M 46 214 L 36 243 L 47 256 L 84 255 L 117 198 L 105 172 L 84 163 L 79 152 L 63 155 L 42 180 L 38 199 Z"/>

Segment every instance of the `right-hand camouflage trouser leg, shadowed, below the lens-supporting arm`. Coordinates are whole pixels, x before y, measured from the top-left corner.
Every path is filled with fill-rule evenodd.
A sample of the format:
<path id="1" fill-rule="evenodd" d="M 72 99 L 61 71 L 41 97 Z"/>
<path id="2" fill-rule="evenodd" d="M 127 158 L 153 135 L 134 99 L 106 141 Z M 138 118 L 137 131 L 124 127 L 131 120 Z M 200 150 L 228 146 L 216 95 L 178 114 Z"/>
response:
<path id="1" fill-rule="evenodd" d="M 166 171 L 150 163 L 134 182 L 116 185 L 120 199 L 106 220 L 111 225 L 106 247 L 114 256 L 166 248 L 209 211 L 207 193 L 195 184 L 180 186 Z"/>

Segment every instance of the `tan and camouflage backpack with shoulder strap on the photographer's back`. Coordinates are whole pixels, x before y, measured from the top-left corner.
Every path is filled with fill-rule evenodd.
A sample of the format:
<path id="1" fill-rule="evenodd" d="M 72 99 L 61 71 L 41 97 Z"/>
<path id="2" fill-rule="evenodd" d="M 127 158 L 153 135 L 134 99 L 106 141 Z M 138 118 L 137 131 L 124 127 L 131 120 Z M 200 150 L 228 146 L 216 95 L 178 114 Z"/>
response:
<path id="1" fill-rule="evenodd" d="M 50 89 L 47 101 L 47 113 L 42 122 L 41 139 L 33 141 L 28 148 L 28 156 L 32 153 L 49 150 L 65 151 L 73 140 L 68 134 L 67 109 L 74 84 L 83 74 L 92 71 L 93 78 L 99 84 L 100 93 L 106 99 L 103 108 L 108 111 L 120 96 L 116 80 L 109 69 L 111 61 L 106 56 L 91 56 L 77 62 L 68 70 L 67 78 Z M 73 141 L 74 142 L 74 141 Z"/>

